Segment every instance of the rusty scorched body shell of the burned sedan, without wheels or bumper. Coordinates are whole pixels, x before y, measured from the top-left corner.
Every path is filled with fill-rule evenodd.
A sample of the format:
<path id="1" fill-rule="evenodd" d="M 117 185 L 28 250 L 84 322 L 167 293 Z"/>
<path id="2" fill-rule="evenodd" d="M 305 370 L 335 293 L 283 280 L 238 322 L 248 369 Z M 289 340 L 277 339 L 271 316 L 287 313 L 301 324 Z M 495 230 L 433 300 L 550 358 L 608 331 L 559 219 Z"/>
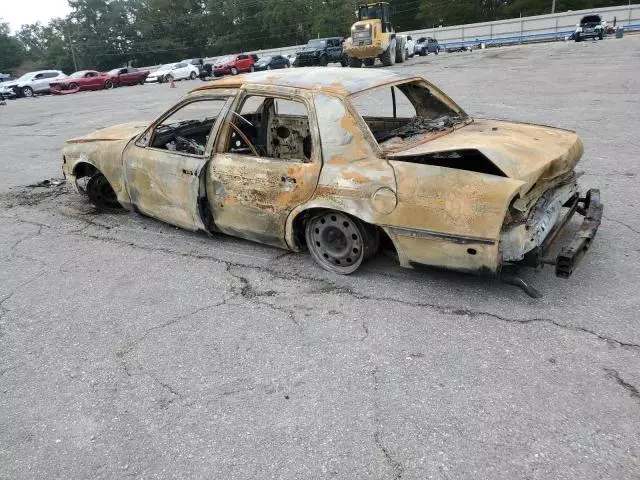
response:
<path id="1" fill-rule="evenodd" d="M 123 205 L 188 229 L 210 228 L 297 250 L 295 219 L 306 210 L 327 208 L 384 229 L 403 266 L 496 273 L 502 247 L 516 252 L 511 255 L 515 258 L 544 238 L 542 233 L 533 242 L 525 238 L 526 214 L 545 192 L 572 175 L 582 143 L 566 130 L 468 119 L 383 150 L 350 99 L 376 87 L 415 81 L 430 86 L 385 70 L 300 68 L 228 77 L 189 94 L 206 98 L 224 92 L 231 99 L 204 156 L 149 148 L 146 133 L 141 135 L 146 126 L 134 123 L 69 141 L 63 168 L 74 181 L 75 165 L 94 165 Z M 431 87 L 435 98 L 467 118 Z M 285 141 L 257 156 L 229 153 L 237 117 L 230 110 L 239 110 L 246 95 L 302 102 L 308 119 L 283 116 L 268 123 L 264 131 L 272 136 L 282 127 L 291 136 L 282 135 Z M 311 142 L 310 153 L 300 146 L 305 138 Z M 456 168 L 455 156 L 447 166 L 415 160 L 463 150 L 477 150 L 504 176 Z M 203 201 L 211 218 L 200 218 Z M 520 212 L 520 220 L 511 216 L 514 211 Z M 501 236 L 506 218 L 516 233 Z M 548 218 L 555 217 L 544 217 L 544 228 Z"/>

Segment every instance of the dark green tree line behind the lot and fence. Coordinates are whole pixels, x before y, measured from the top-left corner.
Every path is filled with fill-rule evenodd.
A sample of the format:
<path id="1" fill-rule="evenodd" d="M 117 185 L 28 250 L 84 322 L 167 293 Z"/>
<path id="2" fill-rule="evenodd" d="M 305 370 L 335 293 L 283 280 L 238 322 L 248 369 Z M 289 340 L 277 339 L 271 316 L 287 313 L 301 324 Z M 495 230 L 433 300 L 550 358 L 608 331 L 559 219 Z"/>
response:
<path id="1" fill-rule="evenodd" d="M 388 0 L 396 29 L 550 13 L 551 0 Z M 71 13 L 14 36 L 0 23 L 0 70 L 20 60 L 38 68 L 110 68 L 297 45 L 348 36 L 356 5 L 345 0 L 69 0 Z M 556 10 L 620 0 L 556 0 Z"/>

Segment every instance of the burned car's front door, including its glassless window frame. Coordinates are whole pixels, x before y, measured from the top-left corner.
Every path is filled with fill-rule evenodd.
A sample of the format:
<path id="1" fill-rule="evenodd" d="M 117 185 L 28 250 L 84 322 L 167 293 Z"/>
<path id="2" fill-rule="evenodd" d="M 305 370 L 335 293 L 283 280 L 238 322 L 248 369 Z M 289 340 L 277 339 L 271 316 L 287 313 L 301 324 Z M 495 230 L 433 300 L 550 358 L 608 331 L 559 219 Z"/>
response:
<path id="1" fill-rule="evenodd" d="M 140 212 L 190 230 L 205 228 L 198 205 L 201 177 L 233 95 L 225 90 L 187 98 L 126 147 L 126 188 Z M 184 140 L 202 150 L 185 151 Z"/>

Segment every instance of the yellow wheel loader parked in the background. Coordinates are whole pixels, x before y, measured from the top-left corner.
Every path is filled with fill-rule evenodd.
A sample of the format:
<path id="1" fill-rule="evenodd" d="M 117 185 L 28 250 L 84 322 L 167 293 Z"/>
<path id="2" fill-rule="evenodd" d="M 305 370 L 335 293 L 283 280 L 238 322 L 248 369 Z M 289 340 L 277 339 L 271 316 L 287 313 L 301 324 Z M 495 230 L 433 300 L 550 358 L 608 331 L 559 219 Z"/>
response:
<path id="1" fill-rule="evenodd" d="M 344 44 L 351 67 L 371 66 L 376 58 L 386 67 L 406 60 L 406 37 L 396 36 L 387 2 L 361 5 L 357 14 L 358 21 Z"/>

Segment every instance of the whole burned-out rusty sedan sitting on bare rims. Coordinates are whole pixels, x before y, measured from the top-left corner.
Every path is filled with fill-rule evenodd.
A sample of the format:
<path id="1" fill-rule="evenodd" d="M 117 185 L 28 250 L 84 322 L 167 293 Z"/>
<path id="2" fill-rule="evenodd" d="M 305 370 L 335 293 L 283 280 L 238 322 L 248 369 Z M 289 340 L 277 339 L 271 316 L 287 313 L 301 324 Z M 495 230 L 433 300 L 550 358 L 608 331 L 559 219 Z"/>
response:
<path id="1" fill-rule="evenodd" d="M 313 68 L 227 77 L 150 123 L 69 140 L 68 182 L 189 230 L 299 251 L 349 274 L 383 242 L 403 267 L 568 277 L 602 214 L 569 130 L 472 118 L 418 76 Z M 574 214 L 577 236 L 549 247 Z"/>

